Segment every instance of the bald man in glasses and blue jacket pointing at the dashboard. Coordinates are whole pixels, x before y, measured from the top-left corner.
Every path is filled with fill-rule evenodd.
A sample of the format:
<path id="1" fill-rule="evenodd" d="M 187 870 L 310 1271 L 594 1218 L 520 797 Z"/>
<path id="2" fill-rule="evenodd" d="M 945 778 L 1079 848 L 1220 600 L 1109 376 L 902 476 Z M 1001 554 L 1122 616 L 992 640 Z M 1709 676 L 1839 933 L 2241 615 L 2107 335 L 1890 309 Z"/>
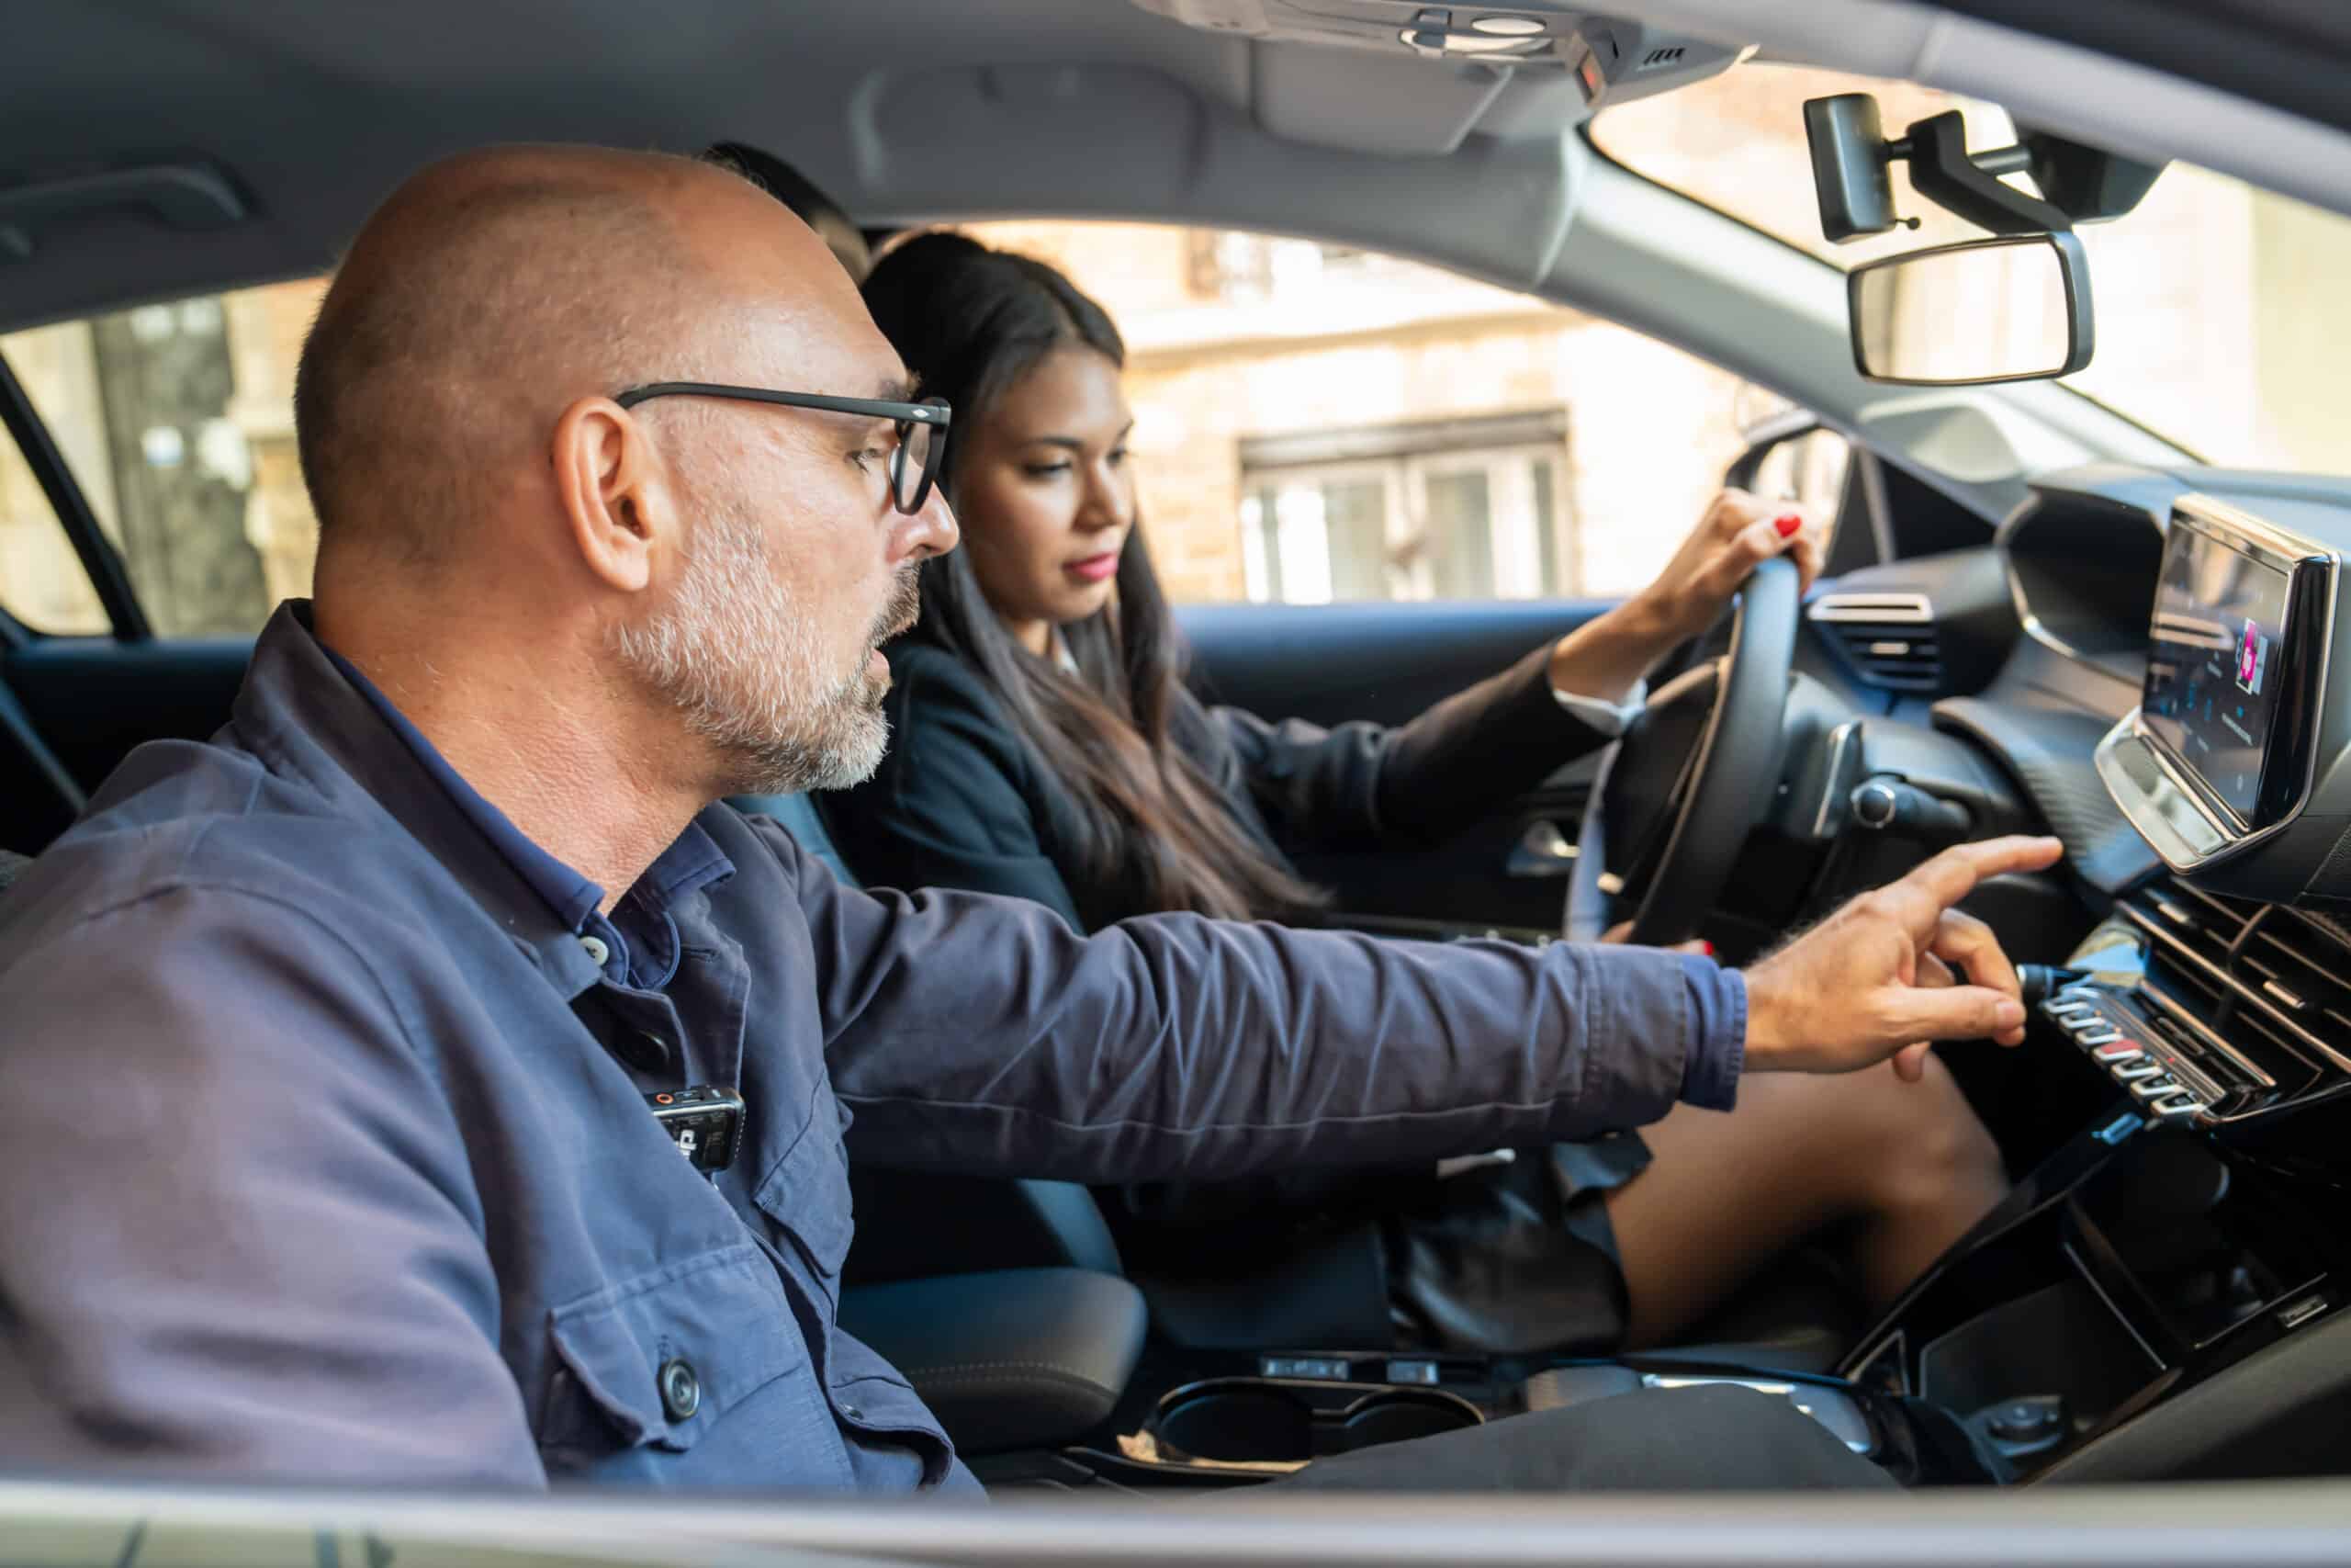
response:
<path id="1" fill-rule="evenodd" d="M 1947 907 L 2045 842 L 1747 976 L 839 886 L 717 802 L 882 752 L 875 649 L 955 545 L 910 393 L 825 247 L 705 165 L 480 153 L 367 223 L 299 376 L 315 602 L 0 900 L 0 1465 L 969 1488 L 835 1326 L 851 1117 L 943 1173 L 1223 1178 L 2020 1037 Z M 1937 959 L 1980 985 L 1911 987 Z M 724 1168 L 656 1121 L 696 1088 L 741 1095 Z M 1784 1401 L 1643 1399 L 1392 1453 L 1876 1476 Z"/>

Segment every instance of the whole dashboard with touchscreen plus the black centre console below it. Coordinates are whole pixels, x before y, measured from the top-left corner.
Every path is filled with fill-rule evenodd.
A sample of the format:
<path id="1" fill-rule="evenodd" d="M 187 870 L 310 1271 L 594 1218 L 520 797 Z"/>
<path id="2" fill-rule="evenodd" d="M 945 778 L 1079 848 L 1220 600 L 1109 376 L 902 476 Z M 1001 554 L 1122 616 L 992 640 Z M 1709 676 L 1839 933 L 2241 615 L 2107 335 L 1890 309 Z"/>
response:
<path id="1" fill-rule="evenodd" d="M 2342 1465 L 2346 557 L 2346 480 L 2085 465 L 2038 475 L 1991 550 L 1808 599 L 1829 701 L 1784 832 L 1846 858 L 1829 896 L 1951 842 L 1890 844 L 1869 792 L 2067 844 L 1970 900 L 2057 959 L 2034 1048 L 1944 1056 L 2017 1187 L 1838 1368 L 1947 1418 L 1994 1481 Z"/>

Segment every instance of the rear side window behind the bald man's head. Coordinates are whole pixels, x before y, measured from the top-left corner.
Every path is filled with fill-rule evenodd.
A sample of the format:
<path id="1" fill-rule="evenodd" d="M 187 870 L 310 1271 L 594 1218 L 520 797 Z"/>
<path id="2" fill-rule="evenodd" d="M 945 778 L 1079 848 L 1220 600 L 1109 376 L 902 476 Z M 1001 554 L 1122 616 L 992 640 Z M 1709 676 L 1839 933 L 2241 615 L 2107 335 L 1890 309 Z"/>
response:
<path id="1" fill-rule="evenodd" d="M 158 635 L 245 637 L 310 592 L 317 524 L 294 456 L 294 357 L 320 282 L 136 306 L 0 336 Z M 40 489 L 0 470 L 0 595 L 45 632 L 103 632 Z M 42 512 L 28 517 L 19 480 Z M 35 534 L 45 543 L 28 543 Z M 19 609 L 21 604 L 21 609 Z"/>

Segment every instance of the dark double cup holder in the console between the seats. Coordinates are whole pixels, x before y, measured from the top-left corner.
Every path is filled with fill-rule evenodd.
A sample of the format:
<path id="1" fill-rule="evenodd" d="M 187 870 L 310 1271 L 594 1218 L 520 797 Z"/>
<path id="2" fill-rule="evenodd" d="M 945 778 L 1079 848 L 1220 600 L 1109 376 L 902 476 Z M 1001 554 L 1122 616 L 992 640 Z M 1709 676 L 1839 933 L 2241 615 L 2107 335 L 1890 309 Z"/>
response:
<path id="1" fill-rule="evenodd" d="M 1483 1420 L 1474 1403 L 1441 1389 L 1218 1378 L 1161 1399 L 1152 1429 L 1171 1460 L 1302 1465 Z"/>

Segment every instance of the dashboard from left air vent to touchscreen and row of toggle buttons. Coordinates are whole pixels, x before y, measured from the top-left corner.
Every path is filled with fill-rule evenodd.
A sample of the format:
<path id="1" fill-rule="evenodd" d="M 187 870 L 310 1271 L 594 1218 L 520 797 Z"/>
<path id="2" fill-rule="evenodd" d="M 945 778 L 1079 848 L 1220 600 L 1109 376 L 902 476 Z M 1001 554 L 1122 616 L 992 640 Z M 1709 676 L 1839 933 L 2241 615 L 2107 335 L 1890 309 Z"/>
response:
<path id="1" fill-rule="evenodd" d="M 2005 628 L 1982 552 L 1848 574 L 1813 607 L 1831 646 L 1860 614 L 1846 642 L 1888 646 L 1897 602 L 1954 670 L 1968 642 L 1998 646 L 1989 677 L 1869 717 L 1834 788 L 1893 771 L 1965 802 L 1977 835 L 2067 842 L 2092 929 L 2045 931 L 2036 957 L 2071 947 L 2083 976 L 2045 1016 L 2142 1117 L 2233 1126 L 2351 1093 L 2351 482 L 2057 470 L 1991 555 Z M 1965 741 L 2022 820 L 1954 790 L 1951 762 L 1904 757 L 1921 731 Z"/>

